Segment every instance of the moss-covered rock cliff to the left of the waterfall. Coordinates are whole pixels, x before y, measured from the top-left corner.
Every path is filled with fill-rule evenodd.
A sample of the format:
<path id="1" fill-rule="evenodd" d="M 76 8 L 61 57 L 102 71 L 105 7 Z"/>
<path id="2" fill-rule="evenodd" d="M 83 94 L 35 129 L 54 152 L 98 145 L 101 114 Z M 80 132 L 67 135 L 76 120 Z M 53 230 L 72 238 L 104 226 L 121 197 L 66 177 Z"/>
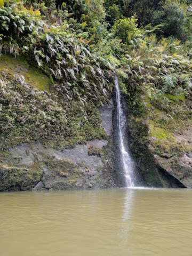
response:
<path id="1" fill-rule="evenodd" d="M 3 55 L 0 61 L 0 191 L 117 186 L 113 101 L 99 110 L 74 101 L 67 106 L 49 77 L 25 59 Z"/>

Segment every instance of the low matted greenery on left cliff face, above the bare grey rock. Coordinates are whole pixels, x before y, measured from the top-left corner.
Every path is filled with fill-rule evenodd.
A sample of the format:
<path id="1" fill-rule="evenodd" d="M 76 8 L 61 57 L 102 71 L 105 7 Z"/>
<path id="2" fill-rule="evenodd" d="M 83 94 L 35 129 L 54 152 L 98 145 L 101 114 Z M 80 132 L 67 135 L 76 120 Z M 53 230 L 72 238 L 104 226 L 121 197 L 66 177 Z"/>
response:
<path id="1" fill-rule="evenodd" d="M 0 78 L 0 148 L 34 141 L 65 148 L 105 138 L 93 104 L 82 107 L 75 100 L 59 100 L 25 83 L 22 76 Z"/>

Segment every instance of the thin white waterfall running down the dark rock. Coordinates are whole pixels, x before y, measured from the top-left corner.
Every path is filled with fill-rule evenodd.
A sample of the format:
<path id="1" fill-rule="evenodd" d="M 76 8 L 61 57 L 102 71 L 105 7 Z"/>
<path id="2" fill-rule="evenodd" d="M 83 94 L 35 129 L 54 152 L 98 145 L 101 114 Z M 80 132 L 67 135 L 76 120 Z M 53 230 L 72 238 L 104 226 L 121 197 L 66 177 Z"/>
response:
<path id="1" fill-rule="evenodd" d="M 117 77 L 115 78 L 115 93 L 117 104 L 117 131 L 118 131 L 118 147 L 120 153 L 120 161 L 125 177 L 126 187 L 134 187 L 133 175 L 134 175 L 134 163 L 131 159 L 128 146 L 126 145 L 126 115 L 122 107 L 122 98 L 118 85 Z"/>

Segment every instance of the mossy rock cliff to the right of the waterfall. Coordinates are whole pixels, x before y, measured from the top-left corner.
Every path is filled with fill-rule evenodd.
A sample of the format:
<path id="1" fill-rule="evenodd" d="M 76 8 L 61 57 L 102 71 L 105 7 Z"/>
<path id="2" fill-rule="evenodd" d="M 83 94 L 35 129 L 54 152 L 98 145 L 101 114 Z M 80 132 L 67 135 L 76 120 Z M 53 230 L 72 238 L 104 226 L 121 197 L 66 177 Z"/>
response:
<path id="1" fill-rule="evenodd" d="M 138 159 L 142 179 L 149 186 L 153 185 L 154 177 L 151 174 L 155 171 L 163 186 L 191 188 L 190 94 L 188 97 L 165 94 L 162 102 L 152 103 L 147 95 L 138 93 L 137 97 L 140 102 L 137 107 L 133 107 L 128 100 L 129 130 L 130 146 Z"/>

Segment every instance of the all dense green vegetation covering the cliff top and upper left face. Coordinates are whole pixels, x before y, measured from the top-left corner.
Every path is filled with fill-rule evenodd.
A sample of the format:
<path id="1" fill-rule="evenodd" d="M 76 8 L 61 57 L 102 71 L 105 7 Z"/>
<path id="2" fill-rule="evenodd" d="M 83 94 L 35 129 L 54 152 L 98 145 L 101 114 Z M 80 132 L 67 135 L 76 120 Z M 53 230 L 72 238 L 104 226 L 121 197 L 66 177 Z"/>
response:
<path id="1" fill-rule="evenodd" d="M 1 75 L 1 147 L 35 140 L 69 147 L 105 137 L 97 107 L 111 97 L 115 74 L 134 116 L 146 118 L 146 105 L 163 111 L 170 127 L 184 112 L 190 119 L 190 104 L 173 104 L 191 97 L 189 4 L 1 0 L 0 53 L 23 55 L 51 81 L 40 92 Z"/>

